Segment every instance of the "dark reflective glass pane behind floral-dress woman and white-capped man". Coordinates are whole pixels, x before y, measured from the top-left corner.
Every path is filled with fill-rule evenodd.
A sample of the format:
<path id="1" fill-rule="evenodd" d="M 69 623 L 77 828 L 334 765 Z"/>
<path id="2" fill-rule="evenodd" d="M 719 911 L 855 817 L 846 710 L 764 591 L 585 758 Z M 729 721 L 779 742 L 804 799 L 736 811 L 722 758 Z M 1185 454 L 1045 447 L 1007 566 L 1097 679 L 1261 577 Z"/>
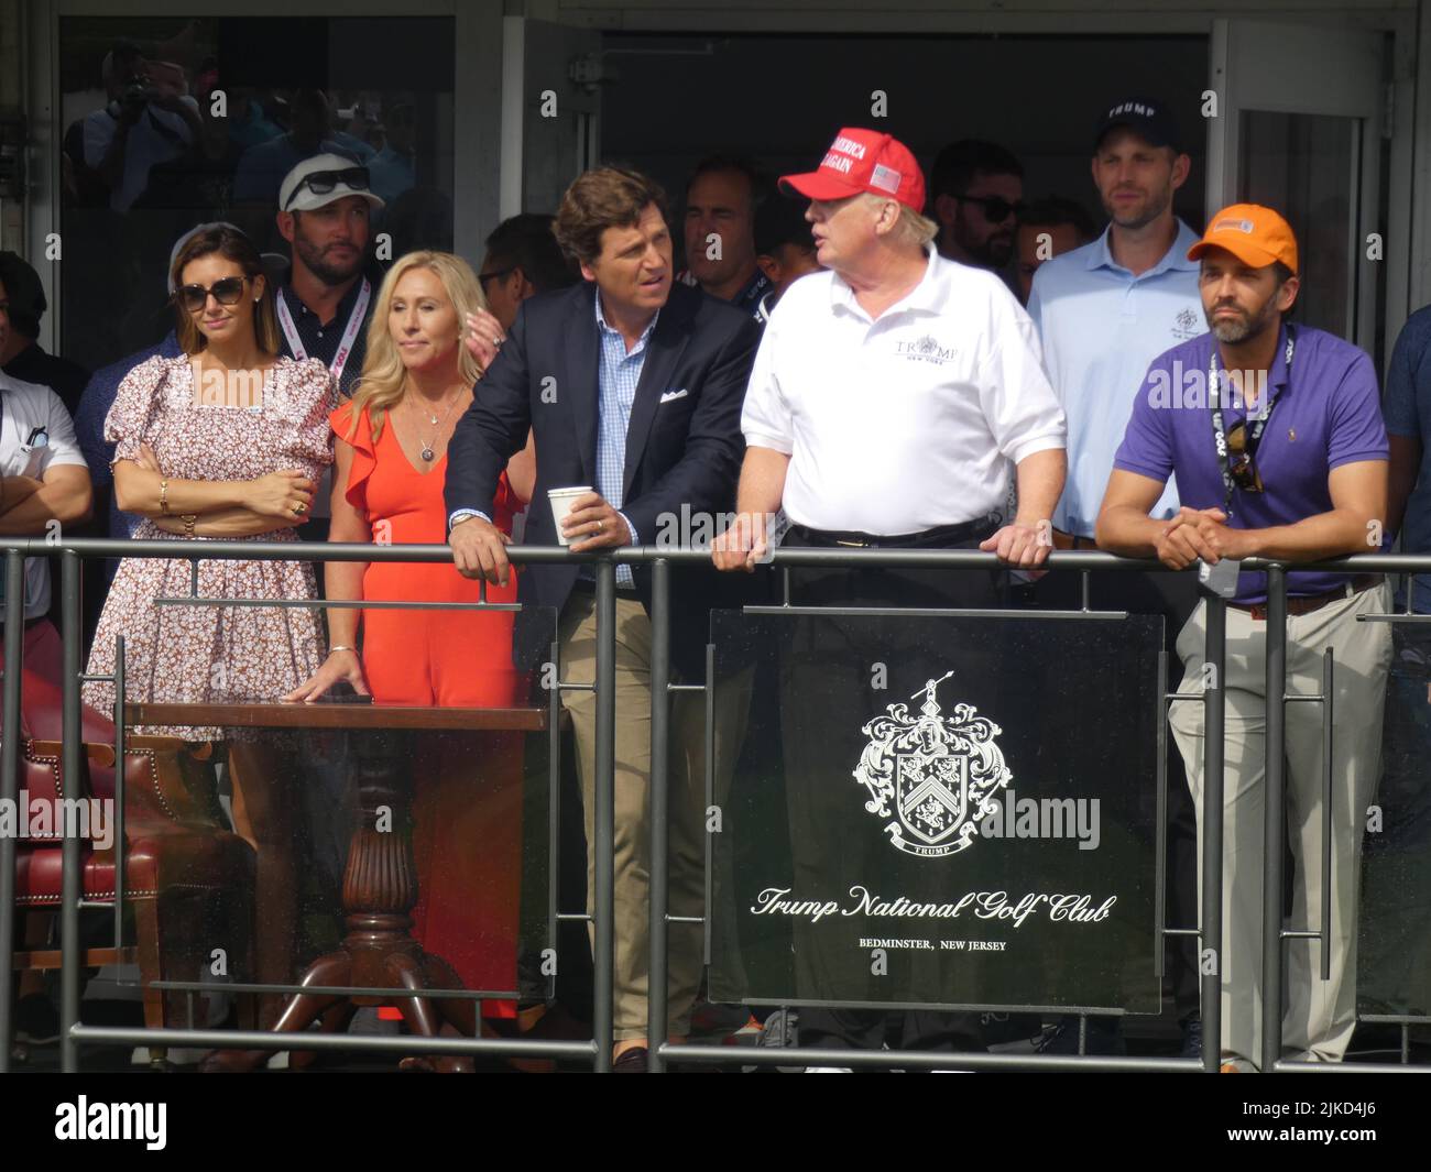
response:
<path id="1" fill-rule="evenodd" d="M 279 183 L 369 169 L 391 256 L 452 248 L 451 17 L 63 17 L 57 349 L 94 369 L 172 325 L 175 240 L 232 220 L 286 269 Z"/>

